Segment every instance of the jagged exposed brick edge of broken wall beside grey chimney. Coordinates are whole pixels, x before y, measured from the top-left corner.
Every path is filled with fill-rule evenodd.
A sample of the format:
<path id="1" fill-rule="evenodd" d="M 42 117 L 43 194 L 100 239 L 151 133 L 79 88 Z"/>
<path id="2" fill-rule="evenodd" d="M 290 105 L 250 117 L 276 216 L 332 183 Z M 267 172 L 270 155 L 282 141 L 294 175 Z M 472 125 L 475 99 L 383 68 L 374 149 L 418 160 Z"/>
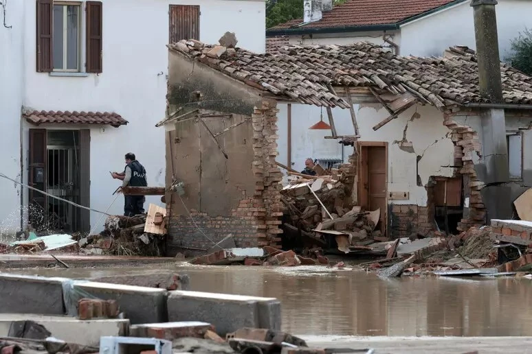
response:
<path id="1" fill-rule="evenodd" d="M 463 114 L 463 111 L 461 112 Z M 474 169 L 475 158 L 480 158 L 482 150 L 478 140 L 478 132 L 469 126 L 465 126 L 453 119 L 455 113 L 447 110 L 444 114 L 443 124 L 452 130 L 451 139 L 455 144 L 454 165 L 458 174 L 468 177 L 468 187 L 471 189 L 469 198 L 469 215 L 467 219 L 462 219 L 458 223 L 459 231 L 467 231 L 472 226 L 482 226 L 485 224 L 486 209 L 480 196 L 480 189 L 483 189 L 484 182 L 478 180 Z M 478 156 L 478 157 L 477 157 Z"/>

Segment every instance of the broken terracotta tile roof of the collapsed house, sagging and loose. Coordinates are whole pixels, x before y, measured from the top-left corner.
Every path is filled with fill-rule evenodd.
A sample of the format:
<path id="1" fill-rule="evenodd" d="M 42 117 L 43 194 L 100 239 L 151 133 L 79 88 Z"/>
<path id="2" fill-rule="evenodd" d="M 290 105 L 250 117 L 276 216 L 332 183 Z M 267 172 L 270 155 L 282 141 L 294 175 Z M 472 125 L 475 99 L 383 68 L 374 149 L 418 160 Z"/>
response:
<path id="1" fill-rule="evenodd" d="M 168 47 L 254 88 L 304 104 L 348 108 L 333 86 L 409 92 L 440 109 L 488 102 L 480 96 L 476 57 L 467 47 L 450 48 L 445 58 L 395 56 L 371 43 L 285 45 L 266 54 L 237 48 L 219 57 L 213 55 L 219 48 L 211 51 L 212 46 L 192 41 Z M 501 63 L 501 71 L 505 103 L 532 104 L 532 78 L 507 64 Z"/>

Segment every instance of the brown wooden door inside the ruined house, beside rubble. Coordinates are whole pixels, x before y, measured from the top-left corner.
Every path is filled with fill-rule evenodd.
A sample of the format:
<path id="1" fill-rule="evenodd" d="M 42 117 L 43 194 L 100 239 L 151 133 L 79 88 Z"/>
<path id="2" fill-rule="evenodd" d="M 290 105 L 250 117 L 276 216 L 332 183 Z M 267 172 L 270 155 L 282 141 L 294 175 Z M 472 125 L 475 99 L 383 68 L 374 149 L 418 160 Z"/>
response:
<path id="1" fill-rule="evenodd" d="M 381 209 L 377 228 L 386 235 L 388 178 L 388 154 L 386 145 L 362 145 L 360 147 L 359 204 L 368 211 Z"/>

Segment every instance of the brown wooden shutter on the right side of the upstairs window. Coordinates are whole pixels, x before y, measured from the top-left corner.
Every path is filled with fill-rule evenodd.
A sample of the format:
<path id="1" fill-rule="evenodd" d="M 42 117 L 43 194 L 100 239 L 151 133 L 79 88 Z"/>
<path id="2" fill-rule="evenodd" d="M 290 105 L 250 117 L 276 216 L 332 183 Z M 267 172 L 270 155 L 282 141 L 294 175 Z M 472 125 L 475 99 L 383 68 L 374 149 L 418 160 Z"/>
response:
<path id="1" fill-rule="evenodd" d="M 102 72 L 102 2 L 87 1 L 87 73 Z"/>

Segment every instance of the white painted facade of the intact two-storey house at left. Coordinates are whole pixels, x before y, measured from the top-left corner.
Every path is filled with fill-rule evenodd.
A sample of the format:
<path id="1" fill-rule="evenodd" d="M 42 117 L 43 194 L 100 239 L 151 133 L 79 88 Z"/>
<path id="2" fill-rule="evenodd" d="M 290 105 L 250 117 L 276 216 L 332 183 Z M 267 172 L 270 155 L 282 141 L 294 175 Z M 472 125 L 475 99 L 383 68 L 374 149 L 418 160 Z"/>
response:
<path id="1" fill-rule="evenodd" d="M 170 4 L 200 5 L 200 40 L 217 43 L 225 32 L 235 32 L 239 47 L 256 52 L 265 51 L 264 0 L 103 0 L 103 73 L 85 77 L 57 77 L 36 72 L 36 7 L 34 1 L 8 1 L 11 21 L 16 30 L 0 28 L 0 47 L 8 48 L 0 56 L 0 113 L 5 115 L 0 139 L 5 154 L 14 156 L 5 162 L 5 174 L 21 172 L 22 134 L 24 180 L 27 182 L 27 151 L 29 123 L 23 122 L 21 106 L 36 110 L 85 110 L 115 112 L 127 121 L 120 128 L 94 126 L 45 126 L 43 128 L 91 128 L 91 207 L 105 211 L 120 185 L 109 171 L 124 169 L 124 154 L 134 152 L 146 167 L 151 186 L 164 185 L 165 132 L 155 128 L 164 118 L 166 109 L 166 75 L 168 74 L 168 6 Z M 82 25 L 85 29 L 85 25 Z M 84 30 L 85 32 L 85 30 Z M 82 47 L 85 46 L 82 43 Z M 5 44 L 5 45 L 4 45 Z M 82 56 L 84 57 L 84 56 Z M 82 67 L 85 67 L 82 60 Z M 7 83 L 7 84 L 4 84 Z M 15 89 L 13 89 L 15 88 Z M 19 92 L 19 95 L 16 93 Z M 4 98 L 5 97 L 5 98 Z M 4 102 L 5 101 L 5 102 Z M 5 109 L 9 106 L 8 109 Z M 8 104 L 8 105 L 7 105 Z M 8 122 L 8 123 L 6 123 Z M 16 132 L 16 134 L 13 134 Z M 12 161 L 11 161 L 12 160 Z M 5 185 L 5 182 L 1 182 Z M 0 220 L 17 209 L 20 199 L 16 190 L 6 192 L 11 202 L 0 205 Z M 27 203 L 27 191 L 24 192 Z M 160 197 L 146 202 L 160 204 Z M 109 213 L 123 213 L 120 196 Z M 5 205 L 5 207 L 3 207 Z M 9 206 L 9 207 L 8 207 Z M 145 204 L 147 207 L 147 203 Z M 2 209 L 3 208 L 3 209 Z M 91 226 L 100 214 L 91 213 Z M 19 229 L 14 224 L 13 229 Z M 102 222 L 96 228 L 100 231 Z"/>

